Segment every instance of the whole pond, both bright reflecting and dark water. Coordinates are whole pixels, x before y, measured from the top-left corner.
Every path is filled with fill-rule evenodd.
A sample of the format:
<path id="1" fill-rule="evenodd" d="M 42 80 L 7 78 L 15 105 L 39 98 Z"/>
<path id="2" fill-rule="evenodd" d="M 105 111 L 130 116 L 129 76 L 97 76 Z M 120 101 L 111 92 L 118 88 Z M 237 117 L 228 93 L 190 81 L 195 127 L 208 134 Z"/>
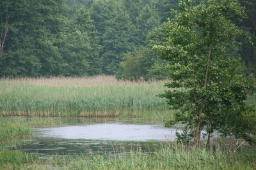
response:
<path id="1" fill-rule="evenodd" d="M 161 143 L 175 140 L 180 130 L 163 122 L 138 118 L 62 118 L 60 127 L 35 128 L 34 136 L 22 137 L 11 146 L 40 157 L 89 153 L 120 154 L 131 150 L 154 152 Z"/>

